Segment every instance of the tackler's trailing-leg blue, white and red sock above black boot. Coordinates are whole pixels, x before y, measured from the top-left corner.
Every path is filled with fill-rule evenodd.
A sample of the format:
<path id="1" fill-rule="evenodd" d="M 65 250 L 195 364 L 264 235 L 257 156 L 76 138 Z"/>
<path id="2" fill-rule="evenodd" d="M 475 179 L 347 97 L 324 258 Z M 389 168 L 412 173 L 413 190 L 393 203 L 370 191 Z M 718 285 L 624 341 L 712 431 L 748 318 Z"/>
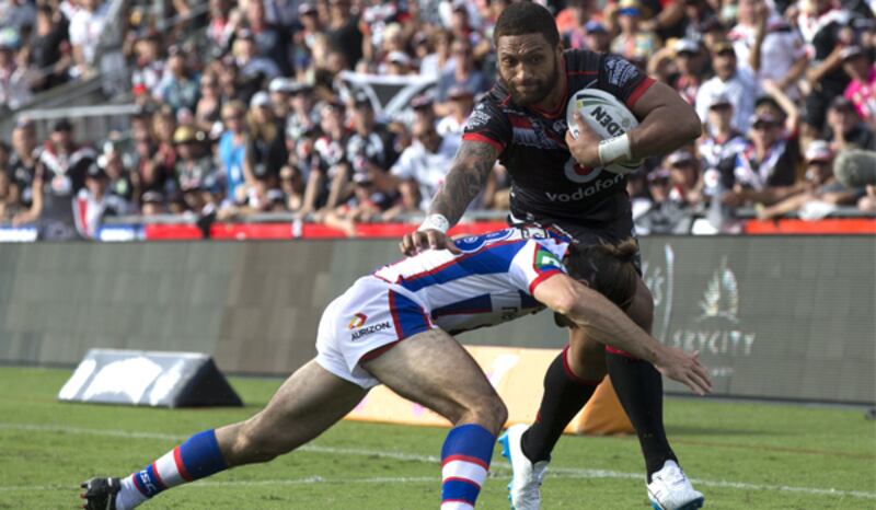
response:
<path id="1" fill-rule="evenodd" d="M 216 441 L 216 431 L 198 432 L 158 461 L 123 478 L 116 507 L 119 510 L 131 509 L 165 489 L 205 478 L 227 467 Z"/>

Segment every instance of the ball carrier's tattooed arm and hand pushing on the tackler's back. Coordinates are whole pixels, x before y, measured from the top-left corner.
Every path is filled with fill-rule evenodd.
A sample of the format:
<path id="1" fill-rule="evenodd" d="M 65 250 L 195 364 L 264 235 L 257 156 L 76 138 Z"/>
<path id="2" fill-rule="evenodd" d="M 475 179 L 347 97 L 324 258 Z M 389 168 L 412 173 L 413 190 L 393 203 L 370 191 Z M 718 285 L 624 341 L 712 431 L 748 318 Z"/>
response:
<path id="1" fill-rule="evenodd" d="M 459 253 L 445 232 L 462 218 L 469 204 L 481 193 L 496 158 L 498 151 L 489 143 L 462 141 L 443 185 L 431 200 L 426 221 L 416 232 L 402 239 L 400 247 L 405 255 L 426 248 Z"/>

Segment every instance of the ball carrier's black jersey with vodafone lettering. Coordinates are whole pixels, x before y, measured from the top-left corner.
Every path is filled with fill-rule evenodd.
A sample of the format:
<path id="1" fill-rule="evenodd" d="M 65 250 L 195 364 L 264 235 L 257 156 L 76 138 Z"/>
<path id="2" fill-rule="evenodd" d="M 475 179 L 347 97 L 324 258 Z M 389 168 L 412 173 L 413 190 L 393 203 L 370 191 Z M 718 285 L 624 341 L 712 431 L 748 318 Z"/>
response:
<path id="1" fill-rule="evenodd" d="M 596 88 L 632 107 L 654 80 L 614 55 L 570 49 L 563 57 L 567 93 L 555 112 L 518 106 L 496 82 L 475 105 L 462 138 L 499 152 L 499 162 L 511 174 L 515 217 L 612 222 L 631 213 L 626 177 L 575 162 L 565 142 L 566 104 L 574 92 Z"/>

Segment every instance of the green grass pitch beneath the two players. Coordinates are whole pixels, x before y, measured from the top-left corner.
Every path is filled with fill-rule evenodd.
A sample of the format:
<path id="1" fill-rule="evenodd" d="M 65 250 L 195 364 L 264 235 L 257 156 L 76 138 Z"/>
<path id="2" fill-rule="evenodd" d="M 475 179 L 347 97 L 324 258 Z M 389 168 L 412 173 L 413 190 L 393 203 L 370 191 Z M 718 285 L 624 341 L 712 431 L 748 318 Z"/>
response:
<path id="1" fill-rule="evenodd" d="M 245 408 L 60 404 L 69 371 L 0 369 L 0 508 L 69 509 L 93 475 L 141 468 L 193 432 L 262 407 L 280 380 L 232 378 Z M 535 403 L 533 403 L 535 405 Z M 860 409 L 669 398 L 676 452 L 713 509 L 876 509 L 876 424 Z M 157 497 L 154 509 L 436 509 L 446 430 L 342 422 L 273 463 Z M 543 487 L 553 509 L 649 508 L 637 442 L 566 437 Z M 507 509 L 498 455 L 479 508 Z"/>

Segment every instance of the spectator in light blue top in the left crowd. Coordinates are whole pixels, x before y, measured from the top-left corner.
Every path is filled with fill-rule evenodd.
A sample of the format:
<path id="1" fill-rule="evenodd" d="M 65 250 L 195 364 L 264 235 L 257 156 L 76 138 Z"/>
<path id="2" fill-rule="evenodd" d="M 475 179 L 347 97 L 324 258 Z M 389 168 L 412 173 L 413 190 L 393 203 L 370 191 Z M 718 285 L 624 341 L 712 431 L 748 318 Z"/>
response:
<path id="1" fill-rule="evenodd" d="M 230 201 L 243 200 L 246 196 L 246 182 L 254 181 L 247 175 L 246 106 L 240 101 L 231 101 L 222 106 L 224 132 L 219 137 L 220 171 L 226 181 L 226 196 Z"/>

